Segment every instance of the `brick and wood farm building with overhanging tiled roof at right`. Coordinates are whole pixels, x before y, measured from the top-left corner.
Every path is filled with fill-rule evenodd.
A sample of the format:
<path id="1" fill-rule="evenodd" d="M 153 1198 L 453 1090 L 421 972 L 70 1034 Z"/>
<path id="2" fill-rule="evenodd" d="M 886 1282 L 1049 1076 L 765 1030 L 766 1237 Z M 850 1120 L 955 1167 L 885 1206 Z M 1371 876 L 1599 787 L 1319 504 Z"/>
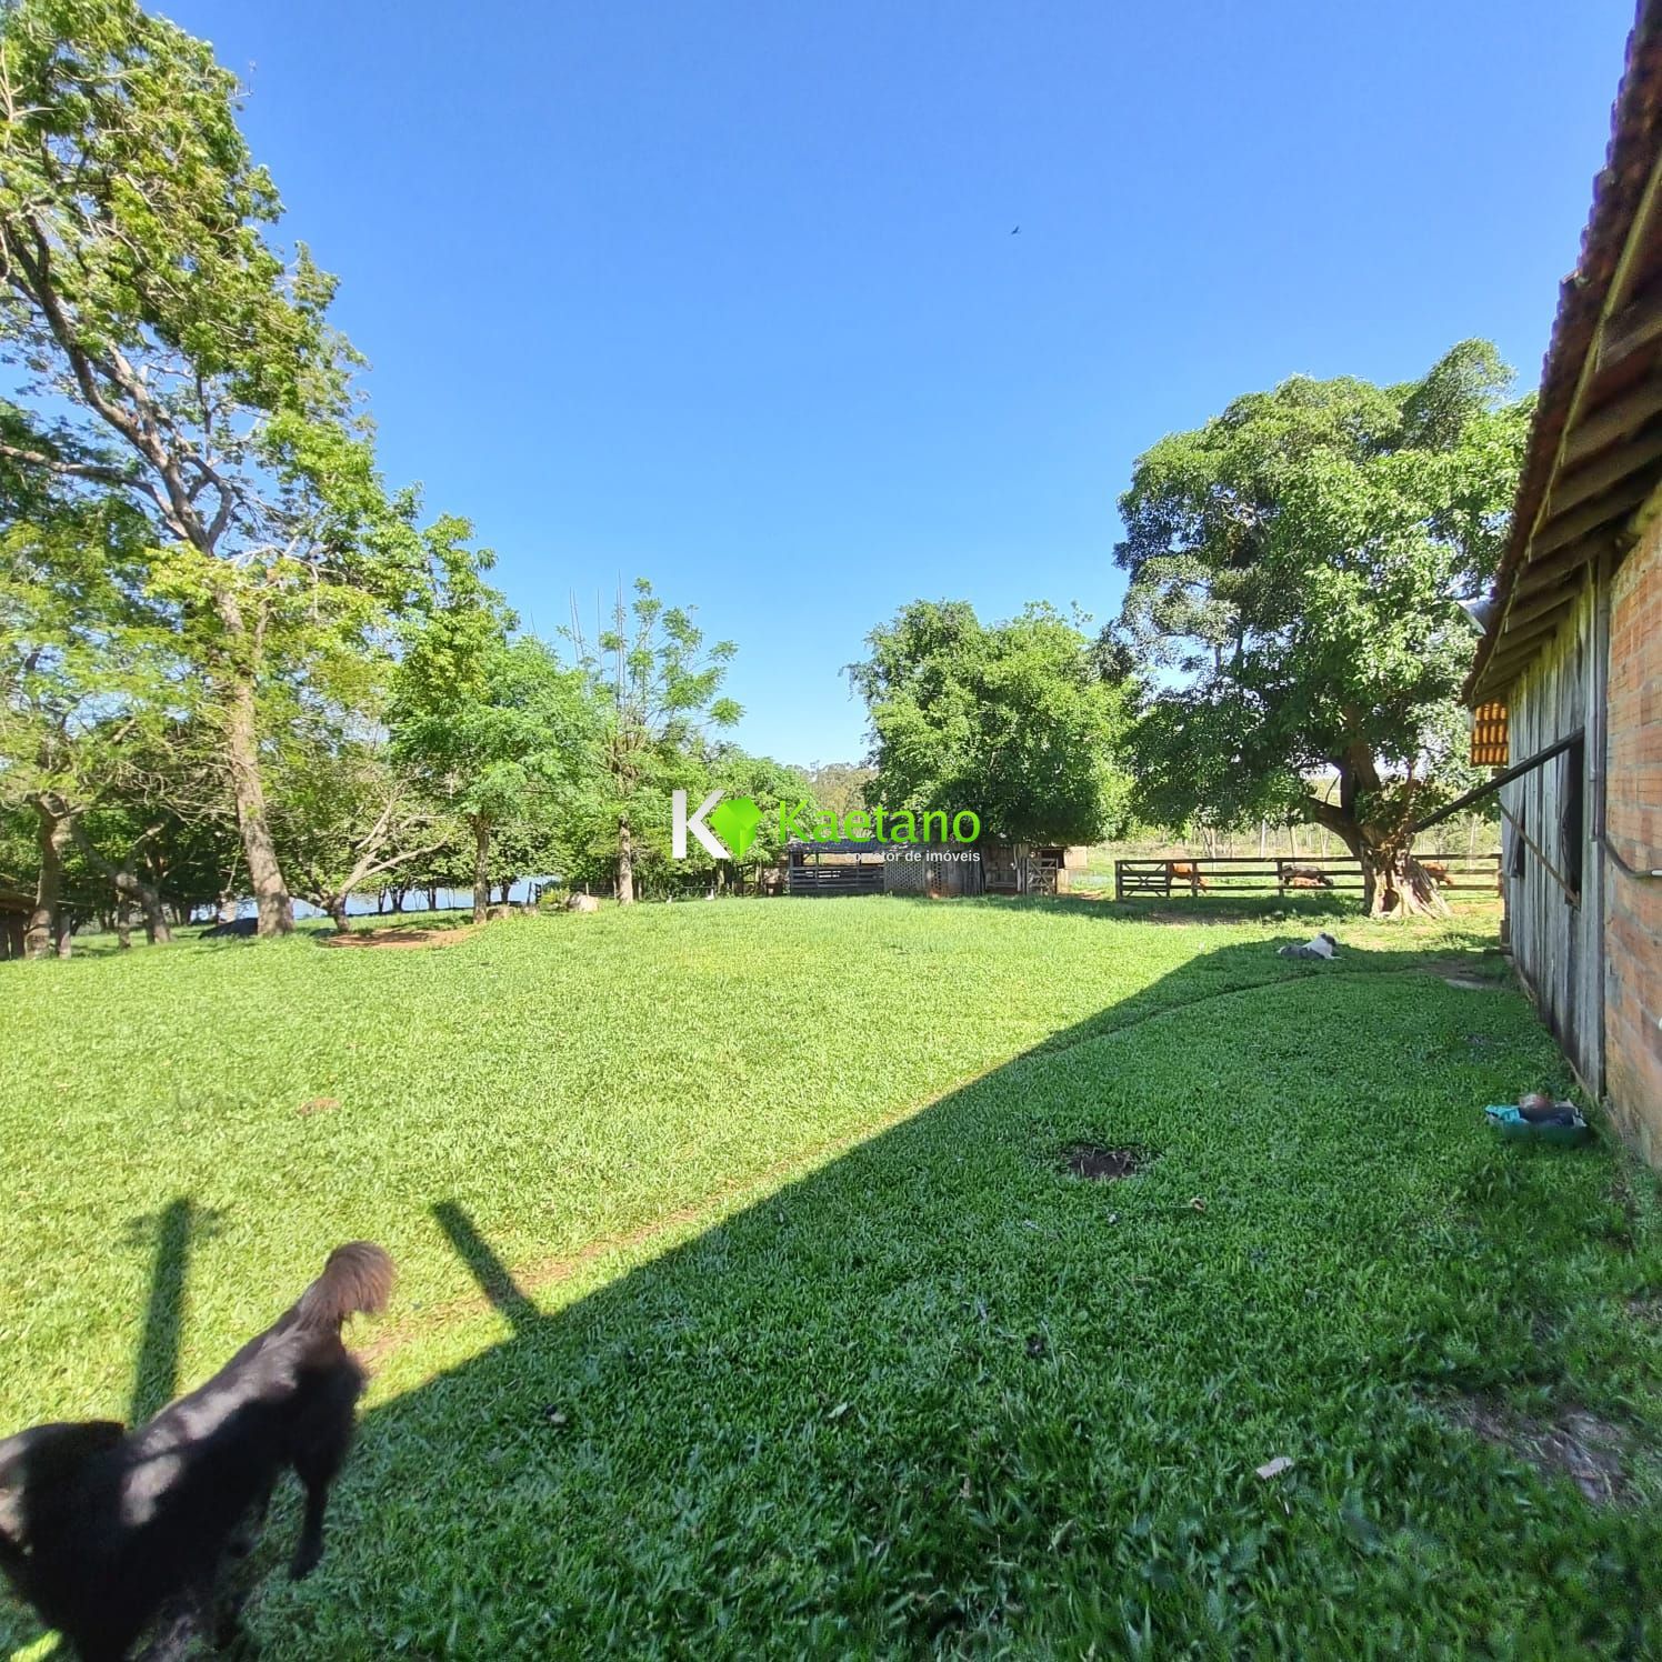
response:
<path id="1" fill-rule="evenodd" d="M 1662 1163 L 1662 0 L 1629 42 L 1466 683 L 1517 971 Z"/>

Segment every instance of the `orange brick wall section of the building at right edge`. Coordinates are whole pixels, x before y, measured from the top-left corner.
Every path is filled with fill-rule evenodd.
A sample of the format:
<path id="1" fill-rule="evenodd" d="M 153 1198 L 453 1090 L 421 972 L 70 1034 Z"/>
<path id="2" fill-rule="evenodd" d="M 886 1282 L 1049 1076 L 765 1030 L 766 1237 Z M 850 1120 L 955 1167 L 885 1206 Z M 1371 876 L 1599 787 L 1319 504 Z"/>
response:
<path id="1" fill-rule="evenodd" d="M 1605 836 L 1637 871 L 1662 869 L 1662 520 L 1610 590 Z M 1662 1167 L 1662 879 L 1605 861 L 1604 1077 L 1622 1128 Z"/>

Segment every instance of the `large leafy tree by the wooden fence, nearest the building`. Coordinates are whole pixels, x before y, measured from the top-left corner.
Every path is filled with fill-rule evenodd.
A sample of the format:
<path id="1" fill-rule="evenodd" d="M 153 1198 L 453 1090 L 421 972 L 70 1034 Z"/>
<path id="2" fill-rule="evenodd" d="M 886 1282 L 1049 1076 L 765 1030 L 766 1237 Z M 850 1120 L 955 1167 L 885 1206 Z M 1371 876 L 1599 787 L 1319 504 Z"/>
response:
<path id="1" fill-rule="evenodd" d="M 1145 676 L 1140 811 L 1288 813 L 1361 863 L 1371 912 L 1439 909 L 1413 824 L 1459 788 L 1471 627 L 1527 401 L 1466 341 L 1418 381 L 1295 377 L 1162 439 L 1120 499 L 1117 628 Z"/>

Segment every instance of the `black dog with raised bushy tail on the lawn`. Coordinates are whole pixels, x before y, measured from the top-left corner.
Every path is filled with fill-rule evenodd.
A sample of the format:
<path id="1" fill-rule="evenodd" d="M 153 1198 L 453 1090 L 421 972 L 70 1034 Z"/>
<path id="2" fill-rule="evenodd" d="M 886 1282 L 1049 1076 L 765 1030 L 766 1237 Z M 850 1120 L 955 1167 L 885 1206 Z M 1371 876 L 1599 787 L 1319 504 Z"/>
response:
<path id="1" fill-rule="evenodd" d="M 341 1325 L 391 1290 L 379 1246 L 337 1246 L 276 1326 L 148 1426 L 93 1419 L 0 1443 L 0 1569 L 42 1620 L 86 1662 L 118 1662 L 179 1601 L 213 1635 L 221 1561 L 286 1468 L 306 1486 L 289 1574 L 311 1571 L 364 1388 Z"/>

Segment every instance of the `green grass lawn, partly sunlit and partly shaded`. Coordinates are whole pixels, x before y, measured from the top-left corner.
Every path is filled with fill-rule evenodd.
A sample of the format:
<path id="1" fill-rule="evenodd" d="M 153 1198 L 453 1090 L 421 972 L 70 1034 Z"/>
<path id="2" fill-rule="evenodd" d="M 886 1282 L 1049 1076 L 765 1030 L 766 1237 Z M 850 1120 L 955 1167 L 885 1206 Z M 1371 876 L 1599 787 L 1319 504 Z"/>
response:
<path id="1" fill-rule="evenodd" d="M 261 1657 L 1662 1649 L 1652 1180 L 1487 1133 L 1569 1084 L 1487 911 L 1238 911 L 3 966 L 0 1431 L 148 1411 L 372 1237 L 361 1443 Z M 1341 959 L 1276 957 L 1316 916 Z"/>

